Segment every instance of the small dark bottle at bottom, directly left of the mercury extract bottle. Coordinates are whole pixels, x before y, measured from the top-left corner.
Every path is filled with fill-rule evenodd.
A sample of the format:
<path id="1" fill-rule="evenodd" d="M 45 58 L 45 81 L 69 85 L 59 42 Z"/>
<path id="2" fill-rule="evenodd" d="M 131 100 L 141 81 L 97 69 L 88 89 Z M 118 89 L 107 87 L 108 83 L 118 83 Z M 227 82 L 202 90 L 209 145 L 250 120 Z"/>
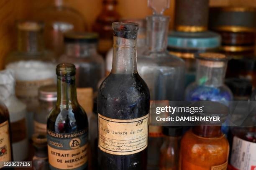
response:
<path id="1" fill-rule="evenodd" d="M 34 147 L 33 170 L 50 170 L 46 132 L 33 134 L 32 141 Z"/>

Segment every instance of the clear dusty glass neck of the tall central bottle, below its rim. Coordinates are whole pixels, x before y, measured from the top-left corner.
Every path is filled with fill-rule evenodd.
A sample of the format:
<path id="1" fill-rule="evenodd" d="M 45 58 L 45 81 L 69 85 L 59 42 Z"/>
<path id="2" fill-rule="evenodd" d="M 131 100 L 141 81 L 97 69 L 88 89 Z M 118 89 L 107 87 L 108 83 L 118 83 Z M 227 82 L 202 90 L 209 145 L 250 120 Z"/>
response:
<path id="1" fill-rule="evenodd" d="M 137 72 L 136 39 L 113 37 L 113 74 L 134 74 Z"/>

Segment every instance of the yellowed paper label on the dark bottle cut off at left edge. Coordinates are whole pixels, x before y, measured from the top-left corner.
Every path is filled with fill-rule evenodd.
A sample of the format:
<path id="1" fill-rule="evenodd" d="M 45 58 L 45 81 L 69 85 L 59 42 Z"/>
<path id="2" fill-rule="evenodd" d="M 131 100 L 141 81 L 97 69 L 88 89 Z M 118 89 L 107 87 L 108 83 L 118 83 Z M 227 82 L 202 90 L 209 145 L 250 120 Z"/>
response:
<path id="1" fill-rule="evenodd" d="M 0 124 L 0 162 L 11 161 L 9 122 Z M 0 168 L 3 164 L 0 165 Z"/>

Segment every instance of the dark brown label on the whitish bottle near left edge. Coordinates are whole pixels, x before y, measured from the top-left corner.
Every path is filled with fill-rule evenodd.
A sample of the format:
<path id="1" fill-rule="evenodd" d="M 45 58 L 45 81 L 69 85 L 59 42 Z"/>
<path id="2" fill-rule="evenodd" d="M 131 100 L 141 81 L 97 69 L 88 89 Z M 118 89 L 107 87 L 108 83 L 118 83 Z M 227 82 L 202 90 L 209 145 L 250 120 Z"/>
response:
<path id="1" fill-rule="evenodd" d="M 26 119 L 11 122 L 12 142 L 20 142 L 27 137 Z"/>

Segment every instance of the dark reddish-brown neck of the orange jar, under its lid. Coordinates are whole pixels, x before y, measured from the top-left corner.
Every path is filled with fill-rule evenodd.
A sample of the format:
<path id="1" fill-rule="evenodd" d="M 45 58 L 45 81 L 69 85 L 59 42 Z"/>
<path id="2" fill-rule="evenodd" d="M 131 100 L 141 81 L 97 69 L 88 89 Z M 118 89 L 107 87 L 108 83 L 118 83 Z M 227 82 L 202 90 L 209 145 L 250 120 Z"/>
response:
<path id="1" fill-rule="evenodd" d="M 192 127 L 192 132 L 200 137 L 221 137 L 223 133 L 221 132 L 221 126 L 194 126 Z"/>

